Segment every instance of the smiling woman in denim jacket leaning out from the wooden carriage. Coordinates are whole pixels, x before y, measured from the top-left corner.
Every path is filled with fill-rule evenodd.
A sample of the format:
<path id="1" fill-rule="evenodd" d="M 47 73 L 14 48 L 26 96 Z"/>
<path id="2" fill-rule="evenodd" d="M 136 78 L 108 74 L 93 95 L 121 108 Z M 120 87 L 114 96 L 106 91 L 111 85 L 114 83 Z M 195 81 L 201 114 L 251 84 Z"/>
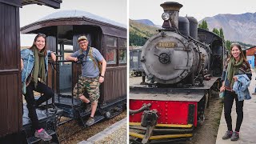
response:
<path id="1" fill-rule="evenodd" d="M 56 60 L 55 54 L 50 50 L 46 50 L 45 34 L 38 34 L 34 38 L 33 45 L 29 49 L 21 51 L 22 94 L 25 96 L 29 118 L 35 129 L 34 136 L 42 138 L 44 141 L 50 141 L 52 137 L 46 133 L 46 130 L 39 126 L 36 107 L 54 96 L 54 91 L 43 83 L 46 82 L 48 55 L 54 61 Z M 41 78 L 42 82 L 38 81 L 38 78 Z M 33 90 L 43 94 L 37 101 L 34 99 Z"/>

